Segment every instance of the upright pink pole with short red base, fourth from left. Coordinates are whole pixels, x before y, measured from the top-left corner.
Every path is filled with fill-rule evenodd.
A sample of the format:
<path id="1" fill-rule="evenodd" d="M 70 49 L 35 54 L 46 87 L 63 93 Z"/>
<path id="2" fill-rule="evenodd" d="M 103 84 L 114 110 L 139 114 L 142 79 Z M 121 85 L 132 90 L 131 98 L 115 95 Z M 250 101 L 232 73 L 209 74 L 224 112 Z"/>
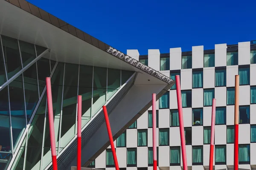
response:
<path id="1" fill-rule="evenodd" d="M 152 94 L 152 123 L 153 123 L 153 170 L 157 170 L 157 111 L 156 94 Z"/>

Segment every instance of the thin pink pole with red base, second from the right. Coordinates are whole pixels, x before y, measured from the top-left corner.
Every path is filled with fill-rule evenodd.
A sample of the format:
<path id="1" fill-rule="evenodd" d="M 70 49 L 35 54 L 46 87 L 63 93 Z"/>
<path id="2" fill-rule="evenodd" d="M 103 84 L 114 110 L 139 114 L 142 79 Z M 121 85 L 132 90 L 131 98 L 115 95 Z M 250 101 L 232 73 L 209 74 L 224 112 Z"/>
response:
<path id="1" fill-rule="evenodd" d="M 211 126 L 209 170 L 213 170 L 213 149 L 214 149 L 214 130 L 215 130 L 215 111 L 216 111 L 215 109 L 216 109 L 216 99 L 212 99 L 212 126 Z"/>

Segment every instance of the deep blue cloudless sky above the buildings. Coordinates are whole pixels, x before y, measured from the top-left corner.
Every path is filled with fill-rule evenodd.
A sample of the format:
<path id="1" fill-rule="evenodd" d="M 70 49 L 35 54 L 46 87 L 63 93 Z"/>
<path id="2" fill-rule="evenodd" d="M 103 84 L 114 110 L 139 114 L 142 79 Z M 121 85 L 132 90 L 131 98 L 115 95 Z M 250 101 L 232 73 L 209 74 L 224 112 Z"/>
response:
<path id="1" fill-rule="evenodd" d="M 28 0 L 126 52 L 256 40 L 256 0 Z"/>

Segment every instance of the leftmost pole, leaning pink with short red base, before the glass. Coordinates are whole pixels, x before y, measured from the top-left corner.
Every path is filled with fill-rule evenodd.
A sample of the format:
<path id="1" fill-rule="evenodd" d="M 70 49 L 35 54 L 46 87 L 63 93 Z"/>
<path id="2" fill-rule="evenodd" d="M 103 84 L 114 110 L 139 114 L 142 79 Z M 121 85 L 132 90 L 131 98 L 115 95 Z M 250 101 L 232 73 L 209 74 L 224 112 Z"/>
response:
<path id="1" fill-rule="evenodd" d="M 46 77 L 46 89 L 47 89 L 47 104 L 48 104 L 50 140 L 51 140 L 51 149 L 52 149 L 52 168 L 53 168 L 53 170 L 58 170 L 57 158 L 56 158 L 56 147 L 55 147 L 53 109 L 52 109 L 52 88 L 51 88 L 51 78 L 50 77 Z"/>

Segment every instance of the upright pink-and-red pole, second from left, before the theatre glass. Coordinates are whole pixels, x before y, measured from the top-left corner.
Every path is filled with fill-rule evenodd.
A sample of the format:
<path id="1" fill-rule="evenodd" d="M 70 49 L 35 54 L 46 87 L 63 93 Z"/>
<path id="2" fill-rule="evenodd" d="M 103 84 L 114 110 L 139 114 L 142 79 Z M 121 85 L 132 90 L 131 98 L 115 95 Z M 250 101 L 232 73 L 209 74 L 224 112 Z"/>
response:
<path id="1" fill-rule="evenodd" d="M 77 170 L 81 170 L 82 96 L 77 96 Z"/>

